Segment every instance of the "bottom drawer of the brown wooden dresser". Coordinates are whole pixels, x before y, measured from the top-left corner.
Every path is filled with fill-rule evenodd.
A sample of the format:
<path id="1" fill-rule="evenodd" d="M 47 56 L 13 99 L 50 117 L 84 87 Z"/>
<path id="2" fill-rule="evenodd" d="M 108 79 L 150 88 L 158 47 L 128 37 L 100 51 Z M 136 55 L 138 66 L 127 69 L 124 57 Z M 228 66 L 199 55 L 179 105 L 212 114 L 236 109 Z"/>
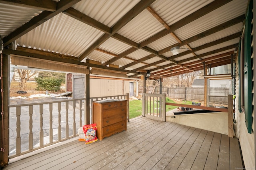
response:
<path id="1" fill-rule="evenodd" d="M 102 129 L 103 138 L 111 136 L 112 134 L 116 134 L 118 132 L 122 132 L 124 130 L 126 130 L 126 120 L 119 123 L 115 123 L 113 125 L 103 127 Z"/>

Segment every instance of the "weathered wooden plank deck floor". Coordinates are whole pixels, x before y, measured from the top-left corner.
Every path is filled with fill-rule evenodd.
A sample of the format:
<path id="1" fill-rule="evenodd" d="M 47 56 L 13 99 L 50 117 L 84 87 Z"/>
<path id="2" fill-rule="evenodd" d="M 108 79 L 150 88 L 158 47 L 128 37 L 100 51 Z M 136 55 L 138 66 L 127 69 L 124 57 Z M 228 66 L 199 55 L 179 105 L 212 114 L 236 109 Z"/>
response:
<path id="1" fill-rule="evenodd" d="M 73 141 L 9 164 L 17 169 L 200 170 L 242 169 L 238 140 L 227 135 L 145 117 L 102 141 Z"/>

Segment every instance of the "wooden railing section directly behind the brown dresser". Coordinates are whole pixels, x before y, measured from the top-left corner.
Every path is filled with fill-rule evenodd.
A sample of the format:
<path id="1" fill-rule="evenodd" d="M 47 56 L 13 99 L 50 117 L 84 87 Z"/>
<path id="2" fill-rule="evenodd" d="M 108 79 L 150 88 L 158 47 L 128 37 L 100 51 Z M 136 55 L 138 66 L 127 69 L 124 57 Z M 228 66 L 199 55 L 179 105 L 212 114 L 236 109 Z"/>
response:
<path id="1" fill-rule="evenodd" d="M 127 100 L 127 121 L 130 121 L 130 114 L 129 114 L 129 93 L 126 95 L 115 95 L 115 96 L 104 96 L 104 97 L 90 97 L 90 123 L 92 123 L 93 120 L 93 109 L 92 109 L 92 102 L 98 101 L 98 100 L 104 100 L 104 99 L 125 99 Z"/>

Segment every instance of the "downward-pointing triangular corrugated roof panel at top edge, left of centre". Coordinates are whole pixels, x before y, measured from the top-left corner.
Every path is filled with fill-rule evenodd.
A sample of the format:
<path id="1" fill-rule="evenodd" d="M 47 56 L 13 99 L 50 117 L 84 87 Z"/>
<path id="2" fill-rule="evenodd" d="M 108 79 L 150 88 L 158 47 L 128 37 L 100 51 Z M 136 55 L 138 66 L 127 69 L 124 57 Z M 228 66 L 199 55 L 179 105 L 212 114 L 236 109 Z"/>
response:
<path id="1" fill-rule="evenodd" d="M 82 0 L 73 6 L 87 16 L 112 27 L 140 0 Z"/>

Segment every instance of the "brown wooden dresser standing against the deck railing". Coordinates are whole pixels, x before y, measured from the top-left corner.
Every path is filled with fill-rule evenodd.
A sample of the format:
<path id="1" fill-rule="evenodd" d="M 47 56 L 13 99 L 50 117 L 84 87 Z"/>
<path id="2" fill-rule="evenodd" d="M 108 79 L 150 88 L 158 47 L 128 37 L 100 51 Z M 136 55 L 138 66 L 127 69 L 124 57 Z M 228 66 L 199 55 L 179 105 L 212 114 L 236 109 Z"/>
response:
<path id="1" fill-rule="evenodd" d="M 97 124 L 99 140 L 127 129 L 127 101 L 102 100 L 93 102 L 93 123 Z"/>

